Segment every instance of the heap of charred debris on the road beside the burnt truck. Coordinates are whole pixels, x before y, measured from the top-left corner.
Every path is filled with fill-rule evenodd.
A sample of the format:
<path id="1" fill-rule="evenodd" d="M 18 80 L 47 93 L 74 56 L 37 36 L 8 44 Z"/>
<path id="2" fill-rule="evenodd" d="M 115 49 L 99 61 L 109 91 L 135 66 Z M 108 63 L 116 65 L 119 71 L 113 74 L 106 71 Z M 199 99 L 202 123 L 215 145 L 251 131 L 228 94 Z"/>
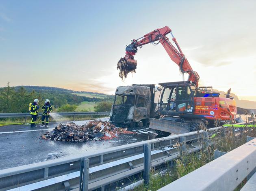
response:
<path id="1" fill-rule="evenodd" d="M 89 121 L 85 125 L 76 125 L 73 122 L 65 125 L 57 125 L 51 132 L 46 132 L 41 137 L 43 139 L 67 142 L 86 142 L 89 140 L 110 140 L 116 138 L 118 134 L 134 134 L 127 131 L 127 128 L 115 127 L 106 121 Z"/>

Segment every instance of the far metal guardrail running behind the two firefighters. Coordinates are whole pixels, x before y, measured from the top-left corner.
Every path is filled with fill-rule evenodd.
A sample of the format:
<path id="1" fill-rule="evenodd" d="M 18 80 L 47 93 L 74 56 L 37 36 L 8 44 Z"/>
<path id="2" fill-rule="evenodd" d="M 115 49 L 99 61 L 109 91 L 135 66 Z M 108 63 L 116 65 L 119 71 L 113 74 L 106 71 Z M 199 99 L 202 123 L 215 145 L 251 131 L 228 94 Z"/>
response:
<path id="1" fill-rule="evenodd" d="M 109 111 L 103 112 L 59 112 L 57 113 L 62 116 L 75 116 L 75 115 L 109 115 Z M 39 113 L 42 115 L 42 113 Z M 9 118 L 9 117 L 30 117 L 30 113 L 0 113 L 0 118 Z"/>

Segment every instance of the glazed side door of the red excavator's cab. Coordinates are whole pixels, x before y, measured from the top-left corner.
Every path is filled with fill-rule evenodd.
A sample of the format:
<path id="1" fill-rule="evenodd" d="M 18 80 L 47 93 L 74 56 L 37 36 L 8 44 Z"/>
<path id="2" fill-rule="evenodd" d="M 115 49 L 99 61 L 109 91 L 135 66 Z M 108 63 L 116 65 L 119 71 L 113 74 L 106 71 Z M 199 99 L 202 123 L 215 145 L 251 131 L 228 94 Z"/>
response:
<path id="1" fill-rule="evenodd" d="M 193 113 L 194 91 L 189 85 L 178 85 L 176 92 L 176 112 Z"/>

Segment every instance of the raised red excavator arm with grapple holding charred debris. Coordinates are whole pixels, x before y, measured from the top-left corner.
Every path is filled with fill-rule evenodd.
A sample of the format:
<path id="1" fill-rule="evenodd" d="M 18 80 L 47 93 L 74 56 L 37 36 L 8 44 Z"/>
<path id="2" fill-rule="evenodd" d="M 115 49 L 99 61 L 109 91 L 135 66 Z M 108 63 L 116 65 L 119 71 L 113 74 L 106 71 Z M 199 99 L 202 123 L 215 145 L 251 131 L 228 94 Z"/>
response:
<path id="1" fill-rule="evenodd" d="M 169 33 L 172 36 L 172 41 L 178 49 L 176 49 L 169 41 L 169 38 L 166 37 L 166 35 Z M 192 81 L 196 84 L 196 86 L 198 86 L 200 77 L 197 72 L 193 71 L 191 68 L 187 58 L 181 51 L 176 38 L 174 38 L 173 34 L 171 33 L 171 29 L 168 26 L 161 29 L 156 29 L 137 40 L 133 39 L 131 44 L 126 46 L 126 55 L 117 63 L 117 69 L 120 70 L 119 76 L 124 79 L 129 72 L 135 72 L 135 69 L 137 68 L 137 61 L 134 59 L 134 55 L 137 53 L 138 47 L 141 48 L 143 45 L 147 45 L 149 43 L 154 43 L 157 45 L 159 42 L 163 45 L 171 60 L 179 66 L 180 72 L 188 73 L 188 81 Z"/>

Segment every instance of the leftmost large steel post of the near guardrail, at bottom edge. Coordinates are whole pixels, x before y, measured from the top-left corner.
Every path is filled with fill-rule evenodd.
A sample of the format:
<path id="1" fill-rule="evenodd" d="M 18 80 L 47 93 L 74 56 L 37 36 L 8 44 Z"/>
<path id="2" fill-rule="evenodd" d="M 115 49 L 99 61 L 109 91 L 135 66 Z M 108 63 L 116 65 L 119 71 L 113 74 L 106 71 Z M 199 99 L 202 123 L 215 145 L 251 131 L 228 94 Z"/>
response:
<path id="1" fill-rule="evenodd" d="M 88 191 L 89 180 L 89 159 L 83 157 L 80 159 L 80 191 Z"/>

